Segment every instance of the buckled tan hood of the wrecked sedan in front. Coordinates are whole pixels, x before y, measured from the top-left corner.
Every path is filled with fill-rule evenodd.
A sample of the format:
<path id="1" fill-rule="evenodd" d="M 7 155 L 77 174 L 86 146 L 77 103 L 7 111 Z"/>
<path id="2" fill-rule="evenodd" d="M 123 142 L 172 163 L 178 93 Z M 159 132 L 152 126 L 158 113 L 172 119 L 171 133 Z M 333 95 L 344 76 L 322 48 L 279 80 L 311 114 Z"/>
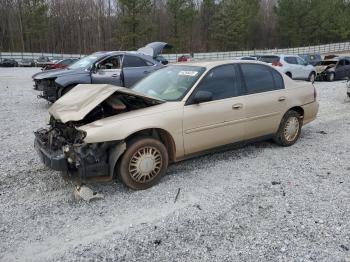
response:
<path id="1" fill-rule="evenodd" d="M 165 102 L 164 100 L 146 96 L 125 87 L 107 84 L 80 84 L 58 99 L 49 108 L 49 113 L 62 123 L 79 121 L 116 92 L 141 97 L 155 103 Z"/>

